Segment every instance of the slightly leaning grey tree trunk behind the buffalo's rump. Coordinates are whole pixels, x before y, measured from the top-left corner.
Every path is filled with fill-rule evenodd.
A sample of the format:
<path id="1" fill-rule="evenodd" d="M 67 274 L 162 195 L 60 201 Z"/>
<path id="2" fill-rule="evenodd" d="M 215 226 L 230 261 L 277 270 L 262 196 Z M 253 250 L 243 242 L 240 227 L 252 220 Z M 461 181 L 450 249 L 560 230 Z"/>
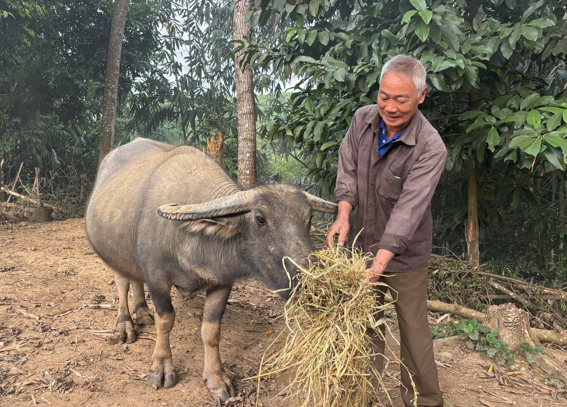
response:
<path id="1" fill-rule="evenodd" d="M 118 79 L 120 76 L 120 56 L 122 37 L 126 25 L 126 12 L 129 0 L 115 0 L 114 16 L 110 29 L 106 78 L 104 80 L 103 119 L 100 132 L 99 167 L 104 157 L 114 147 L 116 126 L 116 104 L 118 99 Z"/>

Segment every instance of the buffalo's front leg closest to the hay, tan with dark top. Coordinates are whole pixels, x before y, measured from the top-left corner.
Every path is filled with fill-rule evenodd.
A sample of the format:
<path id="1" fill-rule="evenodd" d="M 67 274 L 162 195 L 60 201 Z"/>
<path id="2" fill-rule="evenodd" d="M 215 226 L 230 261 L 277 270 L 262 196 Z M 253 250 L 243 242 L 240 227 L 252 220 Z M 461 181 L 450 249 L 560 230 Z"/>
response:
<path id="1" fill-rule="evenodd" d="M 222 315 L 225 313 L 231 289 L 232 287 L 228 286 L 207 290 L 201 327 L 201 336 L 205 345 L 203 378 L 211 395 L 220 398 L 222 402 L 235 395 L 232 381 L 226 375 L 225 368 L 222 367 L 221 354 L 218 350 Z"/>

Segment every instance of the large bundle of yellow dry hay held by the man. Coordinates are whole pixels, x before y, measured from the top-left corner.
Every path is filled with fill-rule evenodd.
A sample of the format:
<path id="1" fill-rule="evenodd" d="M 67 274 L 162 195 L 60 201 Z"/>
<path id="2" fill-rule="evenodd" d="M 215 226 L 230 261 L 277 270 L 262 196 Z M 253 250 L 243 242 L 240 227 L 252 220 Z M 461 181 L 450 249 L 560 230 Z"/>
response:
<path id="1" fill-rule="evenodd" d="M 311 257 L 316 262 L 308 269 L 294 263 L 301 271 L 284 307 L 288 330 L 282 330 L 264 357 L 287 332 L 285 344 L 263 357 L 255 378 L 260 382 L 289 371 L 287 397 L 295 397 L 301 407 L 366 406 L 378 396 L 392 402 L 372 363 L 377 354 L 366 334 L 369 329 L 381 334 L 379 325 L 386 325 L 379 313 L 391 303 L 378 304 L 373 287 L 387 285 L 361 275 L 370 257 L 354 250 L 323 249 Z M 384 359 L 388 365 L 390 359 Z M 400 368 L 405 367 L 400 363 Z"/>

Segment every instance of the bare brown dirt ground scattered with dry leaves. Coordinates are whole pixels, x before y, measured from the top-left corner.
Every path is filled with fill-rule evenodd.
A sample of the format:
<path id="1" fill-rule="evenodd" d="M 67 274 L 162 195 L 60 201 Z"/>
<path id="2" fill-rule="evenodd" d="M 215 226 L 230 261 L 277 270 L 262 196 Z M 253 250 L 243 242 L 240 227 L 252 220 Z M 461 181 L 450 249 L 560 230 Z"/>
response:
<path id="1" fill-rule="evenodd" d="M 275 319 L 283 305 L 275 297 L 253 281 L 231 294 L 221 357 L 242 397 L 234 406 L 255 404 L 256 380 L 244 378 L 257 373 L 266 346 L 285 328 Z M 154 391 L 146 376 L 155 329 L 138 327 L 133 344 L 110 341 L 117 315 L 112 272 L 92 252 L 82 219 L 0 224 L 0 405 L 214 406 L 201 379 L 203 303 L 202 296 L 183 300 L 174 293 L 171 344 L 178 381 Z M 395 330 L 393 310 L 389 317 Z M 539 372 L 489 372 L 490 359 L 458 341 L 434 346 L 446 406 L 567 405 L 565 392 L 545 384 Z M 544 350 L 565 363 L 565 350 Z M 388 367 L 393 375 L 396 369 Z M 263 380 L 261 404 L 293 406 L 281 394 L 286 384 L 285 374 Z M 392 382 L 393 406 L 401 407 L 395 387 Z"/>

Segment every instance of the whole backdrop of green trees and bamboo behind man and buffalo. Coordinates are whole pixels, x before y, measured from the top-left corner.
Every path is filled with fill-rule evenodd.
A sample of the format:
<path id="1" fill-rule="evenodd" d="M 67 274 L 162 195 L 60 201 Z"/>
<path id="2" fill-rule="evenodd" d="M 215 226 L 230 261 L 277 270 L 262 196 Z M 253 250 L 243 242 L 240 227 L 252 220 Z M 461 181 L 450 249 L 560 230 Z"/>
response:
<path id="1" fill-rule="evenodd" d="M 449 156 L 433 200 L 439 251 L 466 251 L 467 162 L 479 169 L 481 261 L 567 278 L 567 16 L 563 0 L 254 0 L 251 44 L 231 42 L 234 2 L 132 0 L 116 143 L 136 135 L 203 148 L 223 134 L 236 173 L 234 46 L 257 95 L 258 179 L 332 197 L 353 112 L 380 67 L 428 70 L 422 111 Z M 40 167 L 44 192 L 94 180 L 110 0 L 0 0 L 0 155 L 5 181 Z M 283 82 L 282 82 L 283 81 Z M 285 82 L 297 83 L 283 93 Z M 30 182 L 31 184 L 31 182 Z"/>

